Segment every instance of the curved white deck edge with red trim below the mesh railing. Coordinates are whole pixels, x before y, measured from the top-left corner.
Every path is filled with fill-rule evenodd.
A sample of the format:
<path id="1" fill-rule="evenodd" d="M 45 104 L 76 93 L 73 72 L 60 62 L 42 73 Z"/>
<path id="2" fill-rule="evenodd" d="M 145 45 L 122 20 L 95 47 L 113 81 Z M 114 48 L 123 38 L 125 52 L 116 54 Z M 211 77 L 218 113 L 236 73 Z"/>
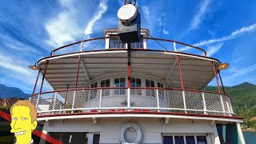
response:
<path id="1" fill-rule="evenodd" d="M 242 117 L 221 116 L 221 115 L 206 115 L 206 114 L 182 114 L 172 112 L 99 112 L 99 113 L 74 113 L 74 114 L 50 114 L 38 115 L 39 121 L 72 119 L 72 118 L 185 118 L 185 119 L 201 119 L 219 122 L 243 122 Z"/>

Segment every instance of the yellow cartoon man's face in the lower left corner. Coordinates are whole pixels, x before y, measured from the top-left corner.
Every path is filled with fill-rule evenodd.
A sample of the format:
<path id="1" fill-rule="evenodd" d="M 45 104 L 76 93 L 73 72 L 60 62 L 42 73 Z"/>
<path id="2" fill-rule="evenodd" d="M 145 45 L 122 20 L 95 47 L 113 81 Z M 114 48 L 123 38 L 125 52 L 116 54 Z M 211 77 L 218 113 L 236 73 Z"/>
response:
<path id="1" fill-rule="evenodd" d="M 37 121 L 31 122 L 30 107 L 14 106 L 11 114 L 11 133 L 15 134 L 18 143 L 31 141 L 31 133 L 37 126 Z"/>

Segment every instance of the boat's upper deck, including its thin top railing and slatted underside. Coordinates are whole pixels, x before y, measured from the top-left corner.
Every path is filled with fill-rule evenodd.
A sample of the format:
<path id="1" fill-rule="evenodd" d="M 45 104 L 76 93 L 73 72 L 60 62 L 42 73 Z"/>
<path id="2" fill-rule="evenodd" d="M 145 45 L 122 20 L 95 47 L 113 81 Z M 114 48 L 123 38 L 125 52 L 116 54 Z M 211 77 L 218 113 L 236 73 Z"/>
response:
<path id="1" fill-rule="evenodd" d="M 127 46 L 120 42 L 115 43 L 115 46 L 111 44 L 117 38 L 116 36 L 93 38 L 62 46 L 53 50 L 50 57 L 38 61 L 40 72 L 44 74 L 47 70 L 46 81 L 54 90 L 66 90 L 67 86 L 70 89 L 82 88 L 93 82 L 95 78 L 127 74 L 129 70 L 131 76 L 139 74 L 161 79 L 168 84 L 165 87 L 181 88 L 183 85 L 186 89 L 202 90 L 214 78 L 213 66 L 218 74 L 217 67 L 221 65 L 218 59 L 206 57 L 206 52 L 201 48 L 182 42 L 143 38 L 143 42 L 135 42 L 128 50 Z M 154 40 L 169 47 L 175 44 L 174 50 L 161 50 L 162 46 L 154 44 L 152 44 L 154 50 L 149 49 L 151 45 L 148 41 Z M 175 48 L 178 44 L 192 49 L 197 48 L 203 55 L 179 52 Z M 88 49 L 90 46 L 93 47 L 91 50 Z M 180 73 L 182 73 L 182 81 Z"/>

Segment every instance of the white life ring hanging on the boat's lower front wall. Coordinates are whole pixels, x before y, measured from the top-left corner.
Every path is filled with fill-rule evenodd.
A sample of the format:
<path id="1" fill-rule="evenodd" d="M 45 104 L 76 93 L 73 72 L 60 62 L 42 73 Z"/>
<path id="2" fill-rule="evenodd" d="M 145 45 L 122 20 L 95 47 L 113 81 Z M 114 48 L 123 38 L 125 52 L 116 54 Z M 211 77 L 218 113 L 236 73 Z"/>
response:
<path id="1" fill-rule="evenodd" d="M 137 138 L 134 142 L 127 142 L 125 138 L 126 130 L 128 130 L 131 127 L 137 131 Z M 120 141 L 122 142 L 122 144 L 140 144 L 142 142 L 141 128 L 135 123 L 126 123 L 125 125 L 122 126 L 122 129 L 120 132 Z"/>

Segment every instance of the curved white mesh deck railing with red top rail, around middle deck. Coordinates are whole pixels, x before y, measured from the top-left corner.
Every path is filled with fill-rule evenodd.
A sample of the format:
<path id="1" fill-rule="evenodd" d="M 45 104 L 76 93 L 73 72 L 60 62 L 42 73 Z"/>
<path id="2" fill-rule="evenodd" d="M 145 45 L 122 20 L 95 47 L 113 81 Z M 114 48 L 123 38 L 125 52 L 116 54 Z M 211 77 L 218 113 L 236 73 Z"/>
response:
<path id="1" fill-rule="evenodd" d="M 161 88 L 97 88 L 52 91 L 30 96 L 38 114 L 91 110 L 154 110 L 188 114 L 234 115 L 225 94 Z"/>

